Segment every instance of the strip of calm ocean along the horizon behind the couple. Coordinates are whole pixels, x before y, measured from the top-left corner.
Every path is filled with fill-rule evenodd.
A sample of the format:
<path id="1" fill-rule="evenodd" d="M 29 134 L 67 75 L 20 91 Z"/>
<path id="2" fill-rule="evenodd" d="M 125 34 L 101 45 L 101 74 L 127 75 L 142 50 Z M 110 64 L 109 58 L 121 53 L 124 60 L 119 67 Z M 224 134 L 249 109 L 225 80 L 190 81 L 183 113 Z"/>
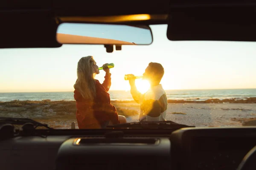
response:
<path id="1" fill-rule="evenodd" d="M 0 101 L 12 100 L 74 100 L 70 92 L 29 92 L 29 93 L 0 93 Z M 133 100 L 130 91 L 109 91 L 111 100 Z M 168 99 L 197 100 L 207 99 L 246 99 L 256 97 L 256 89 L 212 89 L 212 90 L 166 90 Z"/>

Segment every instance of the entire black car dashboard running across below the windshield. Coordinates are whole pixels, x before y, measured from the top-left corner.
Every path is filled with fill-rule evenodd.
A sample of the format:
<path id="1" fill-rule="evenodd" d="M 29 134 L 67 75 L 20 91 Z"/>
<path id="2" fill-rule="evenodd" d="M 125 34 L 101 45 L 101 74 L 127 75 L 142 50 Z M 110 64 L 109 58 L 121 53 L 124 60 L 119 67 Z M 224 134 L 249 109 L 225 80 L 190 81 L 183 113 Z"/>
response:
<path id="1" fill-rule="evenodd" d="M 1 169 L 236 170 L 256 145 L 256 127 L 40 133 L 1 140 Z"/>

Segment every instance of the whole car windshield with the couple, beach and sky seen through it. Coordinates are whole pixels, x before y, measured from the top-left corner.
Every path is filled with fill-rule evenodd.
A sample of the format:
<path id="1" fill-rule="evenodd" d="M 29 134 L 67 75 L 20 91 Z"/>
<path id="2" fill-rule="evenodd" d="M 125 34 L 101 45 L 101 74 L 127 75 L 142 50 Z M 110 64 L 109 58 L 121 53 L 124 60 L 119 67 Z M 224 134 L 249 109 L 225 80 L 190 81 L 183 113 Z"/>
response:
<path id="1" fill-rule="evenodd" d="M 1 49 L 0 116 L 56 129 L 156 120 L 256 125 L 256 42 L 176 42 L 167 25 L 150 27 L 151 45 L 113 53 L 103 45 Z M 105 63 L 114 67 L 98 69 Z"/>

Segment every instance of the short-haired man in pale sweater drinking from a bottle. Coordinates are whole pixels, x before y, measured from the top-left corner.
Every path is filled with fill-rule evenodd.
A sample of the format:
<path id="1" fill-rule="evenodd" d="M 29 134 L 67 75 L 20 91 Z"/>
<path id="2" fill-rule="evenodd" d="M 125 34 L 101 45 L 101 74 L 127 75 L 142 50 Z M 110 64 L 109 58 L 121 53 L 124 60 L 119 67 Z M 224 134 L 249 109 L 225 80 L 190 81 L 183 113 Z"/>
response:
<path id="1" fill-rule="evenodd" d="M 141 94 L 135 85 L 134 75 L 131 74 L 129 83 L 131 95 L 140 104 L 140 121 L 166 121 L 167 97 L 160 81 L 163 77 L 163 66 L 156 62 L 150 62 L 145 69 L 143 79 L 148 80 L 150 89 Z"/>

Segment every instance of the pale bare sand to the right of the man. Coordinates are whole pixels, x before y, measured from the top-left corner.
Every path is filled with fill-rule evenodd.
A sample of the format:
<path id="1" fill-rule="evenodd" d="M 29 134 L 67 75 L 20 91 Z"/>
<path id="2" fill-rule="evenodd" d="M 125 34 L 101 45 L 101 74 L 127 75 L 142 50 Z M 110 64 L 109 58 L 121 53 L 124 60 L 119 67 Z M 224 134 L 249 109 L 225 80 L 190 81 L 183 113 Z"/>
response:
<path id="1" fill-rule="evenodd" d="M 256 119 L 256 104 L 172 103 L 166 120 L 192 126 L 242 126 Z M 136 122 L 138 116 L 128 118 Z"/>

